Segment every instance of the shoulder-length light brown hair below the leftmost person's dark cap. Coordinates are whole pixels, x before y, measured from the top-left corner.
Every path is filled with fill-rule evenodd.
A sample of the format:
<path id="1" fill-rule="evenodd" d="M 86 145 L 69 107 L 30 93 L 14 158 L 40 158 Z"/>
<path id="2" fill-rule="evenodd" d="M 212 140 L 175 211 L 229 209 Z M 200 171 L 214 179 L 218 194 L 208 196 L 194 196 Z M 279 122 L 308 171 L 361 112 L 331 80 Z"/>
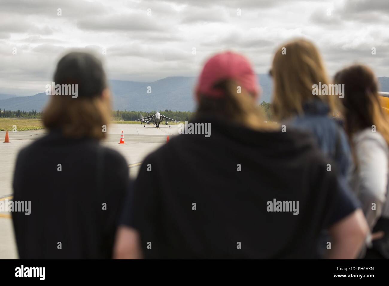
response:
<path id="1" fill-rule="evenodd" d="M 60 129 L 65 137 L 102 139 L 103 125 L 110 121 L 109 98 L 72 98 L 51 95 L 43 113 L 43 124 L 49 129 Z"/>

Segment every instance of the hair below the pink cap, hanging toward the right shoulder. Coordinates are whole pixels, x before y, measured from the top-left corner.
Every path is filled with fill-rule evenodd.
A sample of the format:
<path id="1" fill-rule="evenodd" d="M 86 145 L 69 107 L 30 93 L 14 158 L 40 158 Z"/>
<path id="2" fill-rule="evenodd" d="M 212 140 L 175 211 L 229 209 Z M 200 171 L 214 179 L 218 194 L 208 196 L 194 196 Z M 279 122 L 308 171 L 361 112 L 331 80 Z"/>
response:
<path id="1" fill-rule="evenodd" d="M 223 97 L 214 98 L 199 94 L 199 105 L 196 116 L 216 116 L 228 118 L 231 122 L 244 125 L 254 130 L 274 130 L 277 125 L 266 124 L 262 109 L 254 102 L 253 96 L 242 88 L 237 93 L 233 80 L 223 80 L 215 84 L 215 88 L 223 91 Z"/>

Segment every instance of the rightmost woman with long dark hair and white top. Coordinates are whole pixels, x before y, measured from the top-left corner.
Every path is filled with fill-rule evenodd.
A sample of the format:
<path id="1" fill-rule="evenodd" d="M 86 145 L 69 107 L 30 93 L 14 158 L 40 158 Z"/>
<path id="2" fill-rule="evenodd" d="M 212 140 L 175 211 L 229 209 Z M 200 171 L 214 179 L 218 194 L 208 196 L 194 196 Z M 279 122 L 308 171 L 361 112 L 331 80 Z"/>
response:
<path id="1" fill-rule="evenodd" d="M 341 102 L 354 155 L 352 188 L 376 238 L 366 258 L 389 259 L 389 119 L 380 107 L 377 78 L 370 68 L 353 65 L 336 73 L 335 84 L 344 84 Z"/>

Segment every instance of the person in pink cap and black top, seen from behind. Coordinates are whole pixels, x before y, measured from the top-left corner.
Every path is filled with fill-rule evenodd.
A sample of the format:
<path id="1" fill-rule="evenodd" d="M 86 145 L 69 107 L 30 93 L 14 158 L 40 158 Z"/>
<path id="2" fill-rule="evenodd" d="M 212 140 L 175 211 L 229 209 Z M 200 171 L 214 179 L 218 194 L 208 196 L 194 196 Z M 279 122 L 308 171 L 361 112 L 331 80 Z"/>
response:
<path id="1" fill-rule="evenodd" d="M 115 258 L 320 258 L 323 228 L 329 258 L 356 257 L 367 232 L 357 202 L 308 133 L 264 122 L 259 93 L 243 56 L 207 61 L 196 118 L 140 168 Z"/>

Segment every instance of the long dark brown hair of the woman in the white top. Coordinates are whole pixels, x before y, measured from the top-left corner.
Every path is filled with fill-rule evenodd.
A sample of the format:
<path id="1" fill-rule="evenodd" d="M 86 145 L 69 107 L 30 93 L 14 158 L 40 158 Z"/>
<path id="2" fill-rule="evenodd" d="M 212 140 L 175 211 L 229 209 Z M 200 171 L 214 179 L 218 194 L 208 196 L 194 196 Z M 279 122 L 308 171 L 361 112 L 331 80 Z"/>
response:
<path id="1" fill-rule="evenodd" d="M 364 65 L 352 65 L 336 73 L 334 81 L 335 84 L 344 84 L 341 102 L 349 137 L 375 125 L 389 142 L 388 120 L 380 107 L 378 83 L 373 71 Z"/>

